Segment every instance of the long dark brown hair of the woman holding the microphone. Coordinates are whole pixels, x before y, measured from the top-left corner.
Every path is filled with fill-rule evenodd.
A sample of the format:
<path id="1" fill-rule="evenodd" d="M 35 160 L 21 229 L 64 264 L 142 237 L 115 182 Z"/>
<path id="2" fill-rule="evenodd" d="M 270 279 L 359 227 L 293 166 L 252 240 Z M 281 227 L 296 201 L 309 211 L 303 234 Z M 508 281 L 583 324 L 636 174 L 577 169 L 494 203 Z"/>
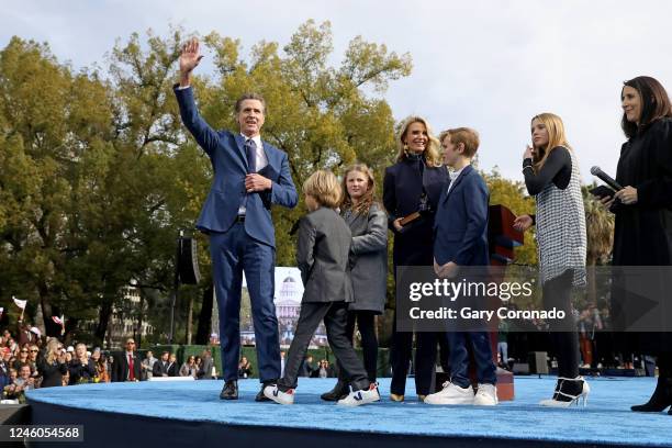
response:
<path id="1" fill-rule="evenodd" d="M 639 124 L 629 122 L 625 112 L 623 119 L 620 119 L 620 127 L 625 133 L 626 137 L 632 138 L 638 133 L 647 130 L 647 127 L 654 121 L 672 116 L 672 103 L 670 103 L 670 96 L 665 91 L 665 88 L 656 79 L 650 76 L 638 76 L 623 83 L 623 87 L 631 87 L 637 90 L 639 98 L 641 99 L 641 115 L 639 116 Z M 620 100 L 623 101 L 623 89 L 620 89 Z"/>

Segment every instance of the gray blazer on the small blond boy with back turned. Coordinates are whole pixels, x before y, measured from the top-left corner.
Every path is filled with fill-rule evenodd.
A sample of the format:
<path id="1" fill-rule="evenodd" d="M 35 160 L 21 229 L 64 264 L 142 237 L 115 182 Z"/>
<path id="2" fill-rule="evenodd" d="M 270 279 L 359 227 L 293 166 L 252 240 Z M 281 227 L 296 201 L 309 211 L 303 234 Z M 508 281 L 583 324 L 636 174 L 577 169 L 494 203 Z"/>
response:
<path id="1" fill-rule="evenodd" d="M 305 288 L 302 302 L 352 301 L 350 243 L 350 228 L 332 209 L 320 208 L 301 220 L 296 265 Z"/>

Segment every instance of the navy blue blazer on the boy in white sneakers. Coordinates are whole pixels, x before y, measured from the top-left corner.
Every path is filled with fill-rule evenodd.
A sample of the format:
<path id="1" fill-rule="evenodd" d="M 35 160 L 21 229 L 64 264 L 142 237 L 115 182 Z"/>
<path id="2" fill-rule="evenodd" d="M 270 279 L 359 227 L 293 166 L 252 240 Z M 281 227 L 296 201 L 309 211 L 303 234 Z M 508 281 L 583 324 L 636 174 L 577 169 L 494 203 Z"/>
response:
<path id="1" fill-rule="evenodd" d="M 434 258 L 439 265 L 486 266 L 490 191 L 470 166 L 445 188 L 434 221 Z"/>

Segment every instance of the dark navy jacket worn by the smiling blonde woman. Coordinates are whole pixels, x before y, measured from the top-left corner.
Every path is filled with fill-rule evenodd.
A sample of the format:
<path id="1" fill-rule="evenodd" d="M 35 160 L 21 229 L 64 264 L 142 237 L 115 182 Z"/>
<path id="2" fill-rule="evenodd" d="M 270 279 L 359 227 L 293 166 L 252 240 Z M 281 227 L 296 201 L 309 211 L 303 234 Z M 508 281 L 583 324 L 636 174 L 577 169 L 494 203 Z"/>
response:
<path id="1" fill-rule="evenodd" d="M 433 264 L 434 213 L 404 227 L 402 233 L 394 229 L 392 222 L 397 217 L 416 212 L 424 191 L 432 209 L 436 212 L 441 192 L 450 180 L 445 166 L 424 166 L 423 160 L 404 158 L 385 168 L 383 179 L 383 205 L 388 212 L 388 226 L 394 233 L 394 266 L 430 266 Z"/>

